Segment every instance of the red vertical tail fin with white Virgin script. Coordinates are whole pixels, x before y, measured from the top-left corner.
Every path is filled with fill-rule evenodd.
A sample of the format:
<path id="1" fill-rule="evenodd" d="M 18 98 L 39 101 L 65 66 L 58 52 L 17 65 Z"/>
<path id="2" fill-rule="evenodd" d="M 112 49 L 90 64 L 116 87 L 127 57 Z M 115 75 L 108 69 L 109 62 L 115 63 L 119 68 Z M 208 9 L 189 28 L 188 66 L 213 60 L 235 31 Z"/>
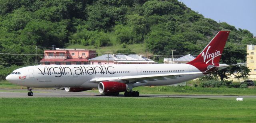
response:
<path id="1" fill-rule="evenodd" d="M 230 31 L 219 31 L 196 59 L 187 64 L 195 66 L 200 71 L 206 71 L 209 65 L 219 66 L 220 57 L 228 39 L 229 32 Z"/>

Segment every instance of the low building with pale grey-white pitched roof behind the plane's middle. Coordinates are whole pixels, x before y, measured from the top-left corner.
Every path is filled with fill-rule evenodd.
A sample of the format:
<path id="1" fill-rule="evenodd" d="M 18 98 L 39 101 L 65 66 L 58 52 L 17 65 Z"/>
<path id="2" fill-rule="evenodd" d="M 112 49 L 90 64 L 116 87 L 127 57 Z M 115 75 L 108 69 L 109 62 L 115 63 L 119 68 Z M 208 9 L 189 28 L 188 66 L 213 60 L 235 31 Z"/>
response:
<path id="1" fill-rule="evenodd" d="M 157 63 L 141 55 L 105 54 L 89 59 L 90 64 L 154 64 Z"/>

